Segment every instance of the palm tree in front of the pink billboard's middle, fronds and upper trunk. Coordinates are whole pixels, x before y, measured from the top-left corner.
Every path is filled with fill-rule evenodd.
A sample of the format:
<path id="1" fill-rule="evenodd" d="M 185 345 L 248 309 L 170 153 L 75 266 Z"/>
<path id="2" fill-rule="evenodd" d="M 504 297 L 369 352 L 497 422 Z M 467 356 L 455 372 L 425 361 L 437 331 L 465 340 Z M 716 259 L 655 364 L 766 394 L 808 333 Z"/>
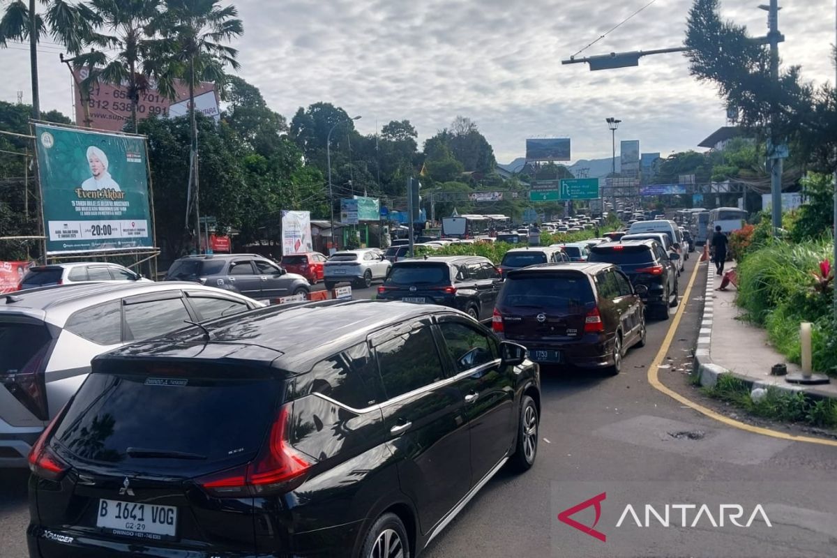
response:
<path id="1" fill-rule="evenodd" d="M 80 87 L 90 88 L 99 81 L 127 84 L 131 100 L 131 121 L 136 132 L 136 107 L 140 95 L 149 87 L 149 75 L 157 68 L 157 41 L 151 37 L 151 25 L 160 18 L 162 0 L 90 0 L 87 7 L 95 13 L 98 27 L 105 33 L 92 33 L 89 43 L 103 49 L 117 49 L 108 59 L 100 51 L 76 56 L 76 68 L 93 67 Z M 110 33 L 110 34 L 107 34 Z"/>

